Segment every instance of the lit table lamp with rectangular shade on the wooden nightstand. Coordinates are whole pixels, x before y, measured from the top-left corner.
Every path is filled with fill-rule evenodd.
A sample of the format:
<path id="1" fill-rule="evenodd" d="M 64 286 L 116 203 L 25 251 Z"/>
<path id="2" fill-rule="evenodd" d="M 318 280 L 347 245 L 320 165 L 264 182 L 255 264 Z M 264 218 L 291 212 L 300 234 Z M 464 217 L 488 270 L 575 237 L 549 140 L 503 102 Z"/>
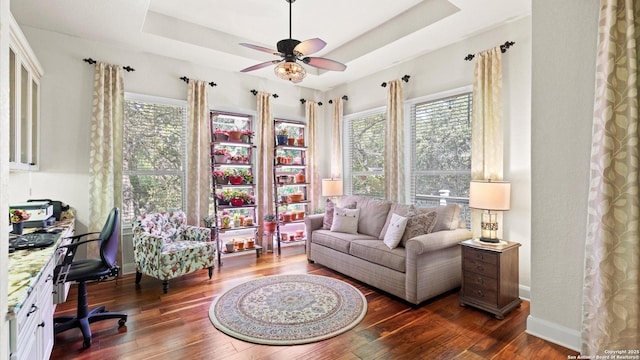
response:
<path id="1" fill-rule="evenodd" d="M 506 181 L 471 181 L 469 207 L 485 210 L 482 213 L 480 241 L 499 243 L 496 211 L 506 211 L 511 208 L 511 184 Z"/>

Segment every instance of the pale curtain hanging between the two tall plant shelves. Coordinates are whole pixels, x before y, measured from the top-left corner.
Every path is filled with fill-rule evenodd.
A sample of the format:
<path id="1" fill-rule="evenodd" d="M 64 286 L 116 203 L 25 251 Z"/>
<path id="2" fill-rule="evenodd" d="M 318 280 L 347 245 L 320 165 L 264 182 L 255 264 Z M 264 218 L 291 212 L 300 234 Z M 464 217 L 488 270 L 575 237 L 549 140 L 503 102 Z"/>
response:
<path id="1" fill-rule="evenodd" d="M 258 221 L 262 224 L 262 218 L 265 214 L 273 214 L 273 151 L 275 145 L 275 133 L 273 130 L 273 118 L 271 115 L 271 94 L 259 92 L 258 98 L 258 131 L 256 138 L 258 139 Z M 259 238 L 262 237 L 262 231 L 258 232 Z M 264 249 L 269 249 L 268 237 L 259 239 Z"/>

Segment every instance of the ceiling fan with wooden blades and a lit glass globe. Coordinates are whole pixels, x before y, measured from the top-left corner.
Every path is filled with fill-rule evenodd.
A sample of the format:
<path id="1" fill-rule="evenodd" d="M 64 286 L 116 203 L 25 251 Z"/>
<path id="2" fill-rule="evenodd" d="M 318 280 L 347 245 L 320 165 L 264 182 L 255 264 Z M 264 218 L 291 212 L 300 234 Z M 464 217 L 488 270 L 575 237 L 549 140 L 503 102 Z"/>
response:
<path id="1" fill-rule="evenodd" d="M 280 56 L 279 60 L 265 61 L 260 64 L 249 66 L 248 68 L 240 70 L 240 72 L 249 72 L 253 70 L 262 69 L 269 65 L 278 64 L 274 68 L 275 74 L 284 80 L 289 80 L 294 83 L 302 81 L 306 75 L 306 70 L 296 61 L 299 60 L 307 65 L 331 71 L 344 71 L 347 66 L 343 63 L 335 60 L 326 59 L 322 57 L 308 56 L 315 52 L 322 50 L 327 43 L 322 39 L 313 38 L 305 41 L 293 39 L 291 36 L 291 4 L 296 0 L 285 0 L 289 3 L 289 38 L 278 41 L 277 49 L 273 50 L 259 45 L 240 43 L 242 46 L 246 46 L 250 49 L 264 51 L 269 54 Z"/>

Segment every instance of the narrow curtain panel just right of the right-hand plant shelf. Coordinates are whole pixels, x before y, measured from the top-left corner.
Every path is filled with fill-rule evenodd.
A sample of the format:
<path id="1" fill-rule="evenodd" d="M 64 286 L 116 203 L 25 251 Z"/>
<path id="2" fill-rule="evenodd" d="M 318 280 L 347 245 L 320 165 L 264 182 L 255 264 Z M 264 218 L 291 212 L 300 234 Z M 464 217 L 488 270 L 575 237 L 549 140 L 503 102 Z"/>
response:
<path id="1" fill-rule="evenodd" d="M 322 179 L 320 178 L 320 171 L 318 168 L 318 139 L 316 137 L 318 128 L 318 103 L 315 101 L 307 101 L 305 103 L 305 113 L 307 117 L 307 182 L 310 184 L 308 187 L 309 198 L 311 201 L 309 210 L 318 208 L 322 203 L 320 202 L 320 190 Z"/>

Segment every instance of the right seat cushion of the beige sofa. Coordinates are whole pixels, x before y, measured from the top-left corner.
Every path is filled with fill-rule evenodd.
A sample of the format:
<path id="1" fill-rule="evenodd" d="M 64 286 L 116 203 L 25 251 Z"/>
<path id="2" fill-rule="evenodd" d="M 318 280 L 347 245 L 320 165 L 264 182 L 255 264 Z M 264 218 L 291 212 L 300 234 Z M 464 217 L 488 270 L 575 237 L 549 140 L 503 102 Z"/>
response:
<path id="1" fill-rule="evenodd" d="M 406 271 L 407 253 L 405 248 L 389 249 L 379 239 L 353 240 L 349 254 L 402 273 Z"/>

